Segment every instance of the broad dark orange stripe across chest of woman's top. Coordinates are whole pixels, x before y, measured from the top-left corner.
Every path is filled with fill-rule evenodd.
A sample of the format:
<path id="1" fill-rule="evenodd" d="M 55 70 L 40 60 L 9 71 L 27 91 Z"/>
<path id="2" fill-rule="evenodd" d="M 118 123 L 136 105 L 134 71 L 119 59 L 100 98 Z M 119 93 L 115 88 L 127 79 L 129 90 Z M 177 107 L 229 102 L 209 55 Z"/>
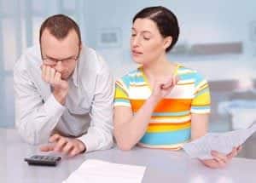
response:
<path id="1" fill-rule="evenodd" d="M 191 99 L 164 99 L 160 100 L 154 108 L 154 112 L 183 112 L 189 111 Z M 131 100 L 132 111 L 137 112 L 143 106 L 145 100 Z"/>

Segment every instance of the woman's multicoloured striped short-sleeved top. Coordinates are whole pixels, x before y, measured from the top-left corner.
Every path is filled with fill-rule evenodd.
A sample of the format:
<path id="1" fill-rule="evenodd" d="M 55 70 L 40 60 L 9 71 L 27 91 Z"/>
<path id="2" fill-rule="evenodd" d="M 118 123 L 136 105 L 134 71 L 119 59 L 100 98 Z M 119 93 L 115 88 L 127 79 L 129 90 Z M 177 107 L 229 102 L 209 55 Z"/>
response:
<path id="1" fill-rule="evenodd" d="M 190 140 L 191 113 L 210 112 L 207 81 L 197 71 L 180 65 L 175 75 L 179 77 L 177 85 L 155 106 L 148 129 L 138 145 L 178 150 Z M 143 67 L 139 67 L 116 82 L 114 106 L 131 107 L 135 114 L 151 93 Z"/>

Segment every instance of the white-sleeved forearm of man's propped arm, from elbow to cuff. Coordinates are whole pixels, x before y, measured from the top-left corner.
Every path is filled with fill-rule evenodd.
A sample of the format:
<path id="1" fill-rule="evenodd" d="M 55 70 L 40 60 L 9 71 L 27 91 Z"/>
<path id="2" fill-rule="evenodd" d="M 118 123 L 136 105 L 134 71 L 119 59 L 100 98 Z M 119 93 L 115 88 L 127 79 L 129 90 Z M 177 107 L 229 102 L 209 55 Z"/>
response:
<path id="1" fill-rule="evenodd" d="M 59 118 L 65 110 L 51 94 L 41 106 L 22 111 L 16 106 L 16 128 L 20 135 L 30 144 L 47 141 Z"/>

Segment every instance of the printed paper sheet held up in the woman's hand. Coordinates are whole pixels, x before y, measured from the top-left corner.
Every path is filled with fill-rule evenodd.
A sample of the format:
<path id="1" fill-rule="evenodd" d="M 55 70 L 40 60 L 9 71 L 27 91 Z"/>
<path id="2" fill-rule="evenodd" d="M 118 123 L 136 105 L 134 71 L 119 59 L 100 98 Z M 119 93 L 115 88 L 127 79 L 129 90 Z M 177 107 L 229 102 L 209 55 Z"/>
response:
<path id="1" fill-rule="evenodd" d="M 256 123 L 248 129 L 238 129 L 226 133 L 208 133 L 183 146 L 189 157 L 212 159 L 211 151 L 228 154 L 233 147 L 240 146 L 256 131 Z"/>

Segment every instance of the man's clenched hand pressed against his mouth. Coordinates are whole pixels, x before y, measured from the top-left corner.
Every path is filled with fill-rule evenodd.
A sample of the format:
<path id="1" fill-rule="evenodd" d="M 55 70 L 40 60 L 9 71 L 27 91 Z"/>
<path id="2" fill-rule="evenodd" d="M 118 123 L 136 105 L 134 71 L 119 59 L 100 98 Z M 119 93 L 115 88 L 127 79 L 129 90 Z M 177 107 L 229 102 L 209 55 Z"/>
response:
<path id="1" fill-rule="evenodd" d="M 44 82 L 49 83 L 53 87 L 55 99 L 58 100 L 61 105 L 64 105 L 68 91 L 67 81 L 62 80 L 61 73 L 55 71 L 54 68 L 46 65 L 41 66 L 41 68 Z"/>

